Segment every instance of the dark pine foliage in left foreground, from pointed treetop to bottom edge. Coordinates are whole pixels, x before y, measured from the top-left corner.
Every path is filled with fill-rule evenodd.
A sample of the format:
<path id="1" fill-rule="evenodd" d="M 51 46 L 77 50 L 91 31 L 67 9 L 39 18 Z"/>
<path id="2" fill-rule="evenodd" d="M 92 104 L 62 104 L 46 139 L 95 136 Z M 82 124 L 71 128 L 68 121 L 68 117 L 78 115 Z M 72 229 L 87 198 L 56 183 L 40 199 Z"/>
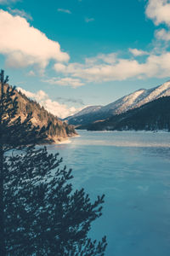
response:
<path id="1" fill-rule="evenodd" d="M 24 123 L 14 119 L 14 88 L 5 85 L 3 71 L 0 79 L 0 254 L 104 255 L 105 237 L 88 238 L 104 195 L 92 203 L 84 189 L 74 191 L 59 154 L 34 147 L 45 129 L 33 128 L 30 116 Z"/>

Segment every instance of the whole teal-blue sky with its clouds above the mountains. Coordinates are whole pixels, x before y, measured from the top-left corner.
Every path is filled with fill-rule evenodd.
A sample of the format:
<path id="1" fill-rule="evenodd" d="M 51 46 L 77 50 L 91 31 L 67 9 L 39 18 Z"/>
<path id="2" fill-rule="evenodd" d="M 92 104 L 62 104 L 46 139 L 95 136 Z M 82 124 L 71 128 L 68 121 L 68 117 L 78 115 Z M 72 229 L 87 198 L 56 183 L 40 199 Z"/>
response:
<path id="1" fill-rule="evenodd" d="M 0 68 L 65 118 L 170 79 L 169 0 L 0 0 Z"/>

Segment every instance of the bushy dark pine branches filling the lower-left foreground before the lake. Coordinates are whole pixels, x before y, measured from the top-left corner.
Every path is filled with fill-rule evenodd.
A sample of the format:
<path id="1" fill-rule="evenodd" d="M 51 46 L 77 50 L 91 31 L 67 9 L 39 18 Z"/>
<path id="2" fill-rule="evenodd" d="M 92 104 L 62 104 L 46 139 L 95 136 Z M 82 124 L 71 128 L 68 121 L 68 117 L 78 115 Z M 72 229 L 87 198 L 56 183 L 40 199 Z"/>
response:
<path id="1" fill-rule="evenodd" d="M 71 170 L 47 148 L 28 148 L 5 164 L 5 226 L 8 255 L 104 255 L 105 237 L 88 238 L 101 216 L 104 195 L 92 203 L 84 189 L 73 191 Z"/>

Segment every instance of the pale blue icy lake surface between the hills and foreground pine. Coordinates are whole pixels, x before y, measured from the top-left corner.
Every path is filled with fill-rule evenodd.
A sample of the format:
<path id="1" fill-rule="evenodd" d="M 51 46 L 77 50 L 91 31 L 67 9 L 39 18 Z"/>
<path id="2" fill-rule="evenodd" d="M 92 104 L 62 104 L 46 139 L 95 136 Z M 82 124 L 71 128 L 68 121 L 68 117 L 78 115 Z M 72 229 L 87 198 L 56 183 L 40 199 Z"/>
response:
<path id="1" fill-rule="evenodd" d="M 170 133 L 78 133 L 48 149 L 73 169 L 75 189 L 85 188 L 93 200 L 105 194 L 89 236 L 107 236 L 106 256 L 169 256 Z"/>

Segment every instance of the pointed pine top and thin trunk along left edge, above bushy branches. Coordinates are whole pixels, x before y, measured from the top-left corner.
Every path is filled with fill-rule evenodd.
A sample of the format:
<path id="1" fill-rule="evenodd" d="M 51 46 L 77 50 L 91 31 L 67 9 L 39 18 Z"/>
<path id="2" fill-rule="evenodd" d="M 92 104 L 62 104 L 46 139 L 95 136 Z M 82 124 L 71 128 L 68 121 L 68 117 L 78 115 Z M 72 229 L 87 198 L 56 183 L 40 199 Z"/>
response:
<path id="1" fill-rule="evenodd" d="M 21 122 L 20 117 L 16 118 L 18 102 L 14 96 L 14 87 L 9 86 L 8 76 L 4 71 L 0 73 L 0 252 L 5 253 L 4 240 L 4 161 L 5 153 L 11 149 L 24 149 L 28 143 L 38 143 L 46 138 L 46 129 L 32 127 L 31 114 Z"/>

